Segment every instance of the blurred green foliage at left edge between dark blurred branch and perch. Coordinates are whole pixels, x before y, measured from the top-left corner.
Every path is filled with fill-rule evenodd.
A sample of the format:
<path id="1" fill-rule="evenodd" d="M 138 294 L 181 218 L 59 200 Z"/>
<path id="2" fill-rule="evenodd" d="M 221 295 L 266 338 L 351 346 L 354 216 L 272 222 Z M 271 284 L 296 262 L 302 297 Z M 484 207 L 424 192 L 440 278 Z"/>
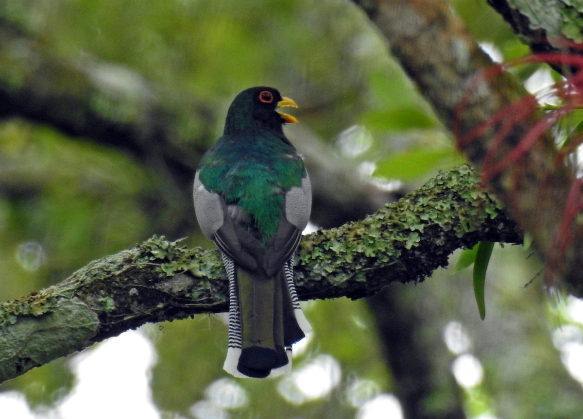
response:
<path id="1" fill-rule="evenodd" d="M 8 264 L 1 298 L 48 286 L 140 240 L 150 182 L 134 161 L 22 121 L 0 125 L 0 137 L 0 237 Z M 38 245 L 27 254 L 27 243 Z"/>

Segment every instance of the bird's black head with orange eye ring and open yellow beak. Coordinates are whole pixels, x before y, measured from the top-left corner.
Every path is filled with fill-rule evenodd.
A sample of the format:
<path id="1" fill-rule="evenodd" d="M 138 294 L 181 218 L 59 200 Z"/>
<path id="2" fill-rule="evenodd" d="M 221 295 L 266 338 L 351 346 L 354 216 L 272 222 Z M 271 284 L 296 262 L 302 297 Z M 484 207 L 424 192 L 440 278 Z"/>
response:
<path id="1" fill-rule="evenodd" d="M 277 110 L 283 106 L 297 108 L 296 102 L 289 97 L 282 97 L 273 87 L 259 86 L 243 90 L 229 107 L 224 133 L 258 128 L 282 132 L 283 124 L 297 122 L 296 118 Z"/>

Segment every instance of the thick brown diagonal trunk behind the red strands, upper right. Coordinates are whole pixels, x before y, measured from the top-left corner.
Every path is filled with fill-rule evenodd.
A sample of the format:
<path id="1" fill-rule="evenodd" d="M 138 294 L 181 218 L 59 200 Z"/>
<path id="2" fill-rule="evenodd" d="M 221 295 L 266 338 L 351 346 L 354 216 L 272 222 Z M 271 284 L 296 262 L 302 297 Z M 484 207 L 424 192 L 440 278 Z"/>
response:
<path id="1" fill-rule="evenodd" d="M 459 138 L 490 121 L 527 93 L 507 73 L 486 78 L 493 63 L 479 48 L 463 24 L 452 15 L 449 5 L 436 0 L 356 1 L 387 37 L 388 44 L 410 78 L 433 105 L 438 117 Z M 483 169 L 486 154 L 493 163 L 511 153 L 526 133 L 539 122 L 527 115 L 508 128 L 504 142 L 491 149 L 496 128 L 484 129 L 462 151 L 476 167 Z M 534 238 L 535 245 L 553 271 L 575 294 L 583 294 L 583 226 L 574 225 L 561 237 L 568 247 L 558 249 L 557 232 L 564 217 L 574 172 L 557 164 L 549 132 L 489 182 L 490 188 L 509 214 Z M 578 194 L 581 202 L 581 193 Z"/>

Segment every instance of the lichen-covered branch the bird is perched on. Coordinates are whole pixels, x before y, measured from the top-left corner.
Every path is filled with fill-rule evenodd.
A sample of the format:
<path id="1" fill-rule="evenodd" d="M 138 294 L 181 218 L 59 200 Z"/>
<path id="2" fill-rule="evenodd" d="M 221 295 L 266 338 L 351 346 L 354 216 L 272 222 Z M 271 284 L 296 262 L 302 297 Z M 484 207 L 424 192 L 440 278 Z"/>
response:
<path id="1" fill-rule="evenodd" d="M 363 221 L 304 236 L 297 290 L 303 300 L 372 295 L 394 281 L 423 280 L 479 240 L 521 236 L 461 166 Z M 153 237 L 1 305 L 0 382 L 144 323 L 227 311 L 227 295 L 216 249 Z"/>

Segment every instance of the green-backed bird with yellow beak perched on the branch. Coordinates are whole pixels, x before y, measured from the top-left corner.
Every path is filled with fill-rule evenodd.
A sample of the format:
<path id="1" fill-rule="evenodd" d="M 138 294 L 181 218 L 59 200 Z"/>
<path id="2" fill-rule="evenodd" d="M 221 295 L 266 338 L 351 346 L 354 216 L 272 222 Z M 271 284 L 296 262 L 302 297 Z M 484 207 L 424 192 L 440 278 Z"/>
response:
<path id="1" fill-rule="evenodd" d="M 291 345 L 311 330 L 294 286 L 294 253 L 310 219 L 304 161 L 283 133 L 296 107 L 273 87 L 237 94 L 223 135 L 201 158 L 194 207 L 229 279 L 229 346 L 223 369 L 265 378 L 291 371 Z"/>

